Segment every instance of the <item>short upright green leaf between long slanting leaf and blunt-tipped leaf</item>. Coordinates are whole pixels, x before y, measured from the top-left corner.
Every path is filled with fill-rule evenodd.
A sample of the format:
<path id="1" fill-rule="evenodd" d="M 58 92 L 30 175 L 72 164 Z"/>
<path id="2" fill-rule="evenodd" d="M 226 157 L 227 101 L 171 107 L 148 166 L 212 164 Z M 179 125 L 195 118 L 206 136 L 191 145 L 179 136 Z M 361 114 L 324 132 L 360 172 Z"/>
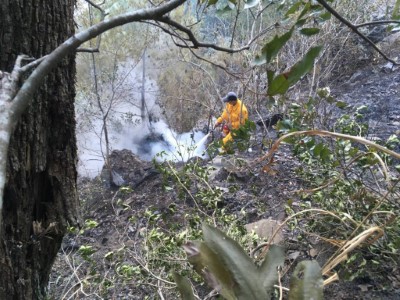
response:
<path id="1" fill-rule="evenodd" d="M 284 262 L 285 253 L 283 249 L 279 246 L 271 245 L 259 268 L 259 276 L 268 294 L 270 294 L 274 284 L 278 281 L 278 267 L 283 267 Z"/>

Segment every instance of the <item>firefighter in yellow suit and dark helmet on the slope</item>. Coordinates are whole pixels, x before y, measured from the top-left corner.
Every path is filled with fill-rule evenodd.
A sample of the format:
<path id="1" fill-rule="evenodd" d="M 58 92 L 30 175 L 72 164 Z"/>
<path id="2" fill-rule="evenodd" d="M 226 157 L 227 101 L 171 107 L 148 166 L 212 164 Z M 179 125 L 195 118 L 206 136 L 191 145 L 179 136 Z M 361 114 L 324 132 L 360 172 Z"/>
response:
<path id="1" fill-rule="evenodd" d="M 222 98 L 222 101 L 226 103 L 226 106 L 221 116 L 217 119 L 214 127 L 223 124 L 222 132 L 224 138 L 222 139 L 222 143 L 225 147 L 227 143 L 232 142 L 233 140 L 231 130 L 238 129 L 240 125 L 243 125 L 246 122 L 248 119 L 248 112 L 243 101 L 240 100 L 234 92 L 229 92 L 224 98 Z"/>

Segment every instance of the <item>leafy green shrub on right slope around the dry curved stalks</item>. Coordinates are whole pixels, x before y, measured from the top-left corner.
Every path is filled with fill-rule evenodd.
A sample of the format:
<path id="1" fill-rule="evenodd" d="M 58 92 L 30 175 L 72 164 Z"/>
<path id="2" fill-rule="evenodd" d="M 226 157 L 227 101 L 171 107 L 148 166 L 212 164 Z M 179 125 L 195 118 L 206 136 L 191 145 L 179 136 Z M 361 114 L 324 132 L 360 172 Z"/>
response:
<path id="1" fill-rule="evenodd" d="M 323 101 L 317 102 L 325 105 L 329 103 L 340 108 L 340 102 L 336 102 L 327 91 L 320 91 L 320 100 Z M 316 99 L 310 99 L 308 103 L 317 102 Z M 291 107 L 289 118 L 277 126 L 282 133 L 295 133 L 313 126 L 318 114 L 309 110 L 308 103 Z M 313 110 L 318 110 L 318 106 L 314 106 Z M 337 119 L 331 125 L 332 131 L 337 130 L 358 137 L 367 135 L 368 124 L 363 117 L 368 111 L 367 108 L 356 107 L 353 111 L 353 114 L 345 114 Z M 343 216 L 343 220 L 346 220 L 343 224 L 331 216 L 310 217 L 307 219 L 307 231 L 315 232 L 321 235 L 322 239 L 341 245 L 342 241 L 376 224 L 385 229 L 385 239 L 375 244 L 367 243 L 367 251 L 356 250 L 351 259 L 343 264 L 340 272 L 343 277 L 354 279 L 363 272 L 371 272 L 365 258 L 369 255 L 374 256 L 382 251 L 395 253 L 397 248 L 394 245 L 399 243 L 395 232 L 400 229 L 400 222 L 398 218 L 393 217 L 399 206 L 392 199 L 398 193 L 399 179 L 393 170 L 394 157 L 388 155 L 390 147 L 393 147 L 389 142 L 391 138 L 384 143 L 387 146 L 386 150 L 382 148 L 381 151 L 377 151 L 380 146 L 371 147 L 370 142 L 364 144 L 364 147 L 357 145 L 354 143 L 355 139 L 336 139 L 329 142 L 320 137 L 305 136 L 290 137 L 286 141 L 293 144 L 294 154 L 303 162 L 297 170 L 298 174 L 311 185 L 308 190 L 301 192 L 304 200 L 310 200 L 304 203 L 304 207 L 321 207 Z M 379 173 L 382 176 L 377 177 Z M 381 192 L 378 192 L 377 186 Z M 394 257 L 388 254 L 380 259 L 382 261 L 377 265 L 385 268 L 384 261 L 391 261 Z"/>

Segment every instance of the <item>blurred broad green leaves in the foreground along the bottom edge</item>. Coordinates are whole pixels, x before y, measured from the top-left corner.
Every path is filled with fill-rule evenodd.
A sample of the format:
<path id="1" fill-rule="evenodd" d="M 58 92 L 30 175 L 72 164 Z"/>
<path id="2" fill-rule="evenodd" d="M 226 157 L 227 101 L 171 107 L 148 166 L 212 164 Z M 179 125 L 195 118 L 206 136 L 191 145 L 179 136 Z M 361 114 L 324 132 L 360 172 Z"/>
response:
<path id="1" fill-rule="evenodd" d="M 203 224 L 204 242 L 184 246 L 188 261 L 225 299 L 270 299 L 283 250 L 271 246 L 257 267 L 240 245 L 215 227 Z M 300 275 L 301 273 L 301 275 Z M 178 284 L 181 294 L 187 289 Z M 322 299 L 322 274 L 316 262 L 301 262 L 291 281 L 289 299 Z M 184 298 L 183 298 L 184 299 Z"/>

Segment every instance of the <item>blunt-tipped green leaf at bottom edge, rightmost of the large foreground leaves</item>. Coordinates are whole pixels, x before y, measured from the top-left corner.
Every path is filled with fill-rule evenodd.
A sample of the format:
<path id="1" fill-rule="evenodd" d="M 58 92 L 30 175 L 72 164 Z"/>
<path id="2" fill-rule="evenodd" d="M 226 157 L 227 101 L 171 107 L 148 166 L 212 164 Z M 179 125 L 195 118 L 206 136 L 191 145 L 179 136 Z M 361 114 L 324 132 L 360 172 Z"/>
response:
<path id="1" fill-rule="evenodd" d="M 316 261 L 300 262 L 290 280 L 289 300 L 309 299 L 323 299 L 322 272 Z"/>

